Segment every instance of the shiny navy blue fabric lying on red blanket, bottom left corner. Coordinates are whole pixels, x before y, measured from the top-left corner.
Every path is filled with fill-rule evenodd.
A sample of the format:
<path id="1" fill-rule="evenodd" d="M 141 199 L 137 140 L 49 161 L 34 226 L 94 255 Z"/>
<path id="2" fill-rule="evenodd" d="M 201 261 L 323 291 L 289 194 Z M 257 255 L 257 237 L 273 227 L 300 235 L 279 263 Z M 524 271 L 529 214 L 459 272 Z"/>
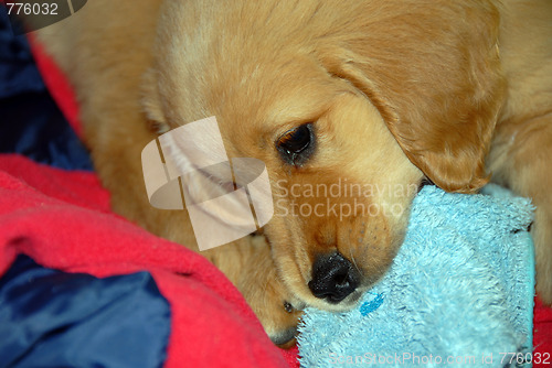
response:
<path id="1" fill-rule="evenodd" d="M 19 256 L 0 279 L 0 367 L 161 367 L 170 307 L 147 272 L 97 279 Z"/>

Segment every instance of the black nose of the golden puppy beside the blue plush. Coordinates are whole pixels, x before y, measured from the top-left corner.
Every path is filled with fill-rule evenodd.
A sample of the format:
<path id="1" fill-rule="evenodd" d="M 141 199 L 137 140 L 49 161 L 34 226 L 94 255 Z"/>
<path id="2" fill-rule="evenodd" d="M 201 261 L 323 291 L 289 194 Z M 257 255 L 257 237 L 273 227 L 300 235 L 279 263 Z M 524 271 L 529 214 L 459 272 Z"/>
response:
<path id="1" fill-rule="evenodd" d="M 320 256 L 312 264 L 309 289 L 316 297 L 337 304 L 352 293 L 360 283 L 360 274 L 340 253 Z"/>

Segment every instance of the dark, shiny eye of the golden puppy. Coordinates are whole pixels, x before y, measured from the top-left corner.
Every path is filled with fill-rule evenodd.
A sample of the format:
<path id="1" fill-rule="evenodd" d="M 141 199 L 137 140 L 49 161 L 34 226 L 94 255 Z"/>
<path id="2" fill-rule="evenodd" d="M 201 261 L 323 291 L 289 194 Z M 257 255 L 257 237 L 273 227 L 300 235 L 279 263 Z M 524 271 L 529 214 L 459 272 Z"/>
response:
<path id="1" fill-rule="evenodd" d="M 314 138 L 312 123 L 306 123 L 285 132 L 276 142 L 276 149 L 286 163 L 298 166 L 311 155 Z"/>

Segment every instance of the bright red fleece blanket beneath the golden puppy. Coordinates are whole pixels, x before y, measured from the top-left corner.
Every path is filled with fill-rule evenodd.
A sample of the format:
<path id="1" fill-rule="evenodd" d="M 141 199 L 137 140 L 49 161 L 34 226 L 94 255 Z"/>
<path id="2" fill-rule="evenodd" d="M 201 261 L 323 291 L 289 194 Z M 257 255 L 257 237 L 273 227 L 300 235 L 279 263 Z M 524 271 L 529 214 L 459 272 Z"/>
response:
<path id="1" fill-rule="evenodd" d="M 68 84 L 36 45 L 34 53 L 79 132 Z M 297 349 L 276 348 L 238 291 L 204 258 L 110 213 L 109 195 L 93 173 L 0 155 L 0 274 L 20 252 L 45 267 L 97 277 L 148 270 L 172 310 L 168 367 L 298 366 Z M 552 310 L 539 301 L 534 346 L 552 351 Z"/>

